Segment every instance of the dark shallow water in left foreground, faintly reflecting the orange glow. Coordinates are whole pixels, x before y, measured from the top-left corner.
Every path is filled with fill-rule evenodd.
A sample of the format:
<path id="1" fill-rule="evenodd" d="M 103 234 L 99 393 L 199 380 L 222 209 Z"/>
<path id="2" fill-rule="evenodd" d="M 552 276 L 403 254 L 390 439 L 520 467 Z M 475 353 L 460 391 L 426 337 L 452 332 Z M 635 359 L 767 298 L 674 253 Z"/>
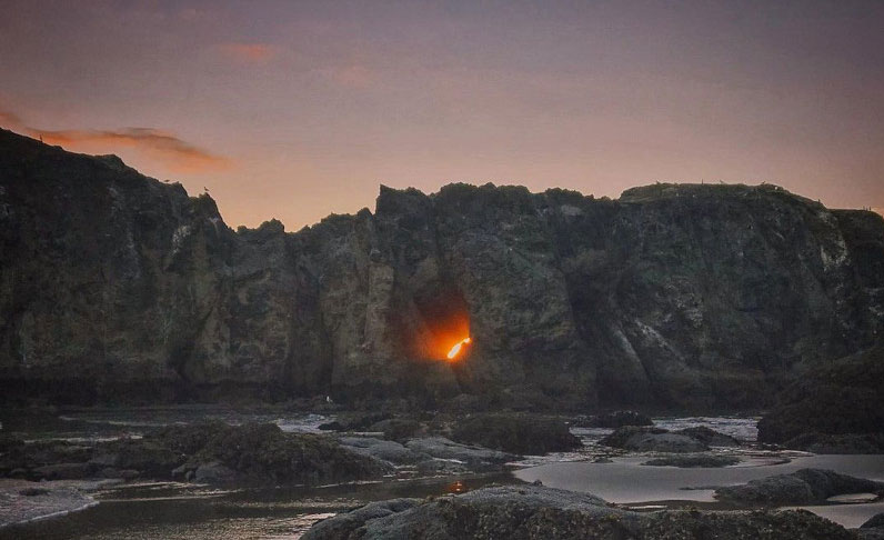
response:
<path id="1" fill-rule="evenodd" d="M 100 503 L 81 512 L 0 529 L 0 539 L 297 539 L 320 519 L 369 501 L 458 493 L 515 481 L 496 474 L 261 490 L 133 484 L 100 493 Z"/>

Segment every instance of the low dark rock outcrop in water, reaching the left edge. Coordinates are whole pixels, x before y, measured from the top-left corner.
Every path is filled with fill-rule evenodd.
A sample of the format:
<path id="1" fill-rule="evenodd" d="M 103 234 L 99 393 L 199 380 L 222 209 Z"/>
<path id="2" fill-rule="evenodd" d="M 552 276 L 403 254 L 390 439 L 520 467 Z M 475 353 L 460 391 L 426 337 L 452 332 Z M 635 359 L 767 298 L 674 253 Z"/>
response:
<path id="1" fill-rule="evenodd" d="M 168 426 L 142 438 L 73 444 L 0 440 L 0 477 L 143 478 L 200 483 L 319 484 L 375 479 L 391 468 L 338 441 L 271 423 Z"/>

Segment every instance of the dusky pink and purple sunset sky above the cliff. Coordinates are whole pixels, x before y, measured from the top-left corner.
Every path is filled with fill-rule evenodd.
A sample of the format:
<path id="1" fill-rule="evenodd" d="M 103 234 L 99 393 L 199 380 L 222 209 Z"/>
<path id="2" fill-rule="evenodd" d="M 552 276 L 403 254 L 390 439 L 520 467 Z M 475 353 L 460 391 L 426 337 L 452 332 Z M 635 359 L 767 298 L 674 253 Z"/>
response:
<path id="1" fill-rule="evenodd" d="M 884 209 L 881 1 L 0 0 L 0 127 L 231 227 L 379 184 L 770 182 Z"/>

